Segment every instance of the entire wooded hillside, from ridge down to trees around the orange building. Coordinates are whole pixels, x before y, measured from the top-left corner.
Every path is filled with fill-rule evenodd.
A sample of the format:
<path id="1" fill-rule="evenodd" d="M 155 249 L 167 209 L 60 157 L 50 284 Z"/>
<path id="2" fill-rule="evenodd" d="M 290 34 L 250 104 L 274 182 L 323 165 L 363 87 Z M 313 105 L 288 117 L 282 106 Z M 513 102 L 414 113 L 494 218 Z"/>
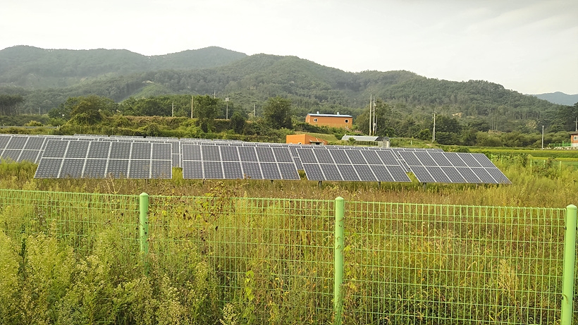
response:
<path id="1" fill-rule="evenodd" d="M 367 134 L 370 97 L 375 135 L 431 140 L 435 114 L 442 145 L 536 147 L 542 128 L 546 144 L 567 142 L 578 121 L 578 103 L 551 104 L 493 82 L 402 70 L 348 73 L 295 56 L 214 47 L 149 58 L 104 49 L 0 51 L 1 123 L 61 125 L 59 132 L 83 126 L 95 133 L 276 141 L 295 131 Z M 355 129 L 305 124 L 316 111 L 350 114 Z"/>

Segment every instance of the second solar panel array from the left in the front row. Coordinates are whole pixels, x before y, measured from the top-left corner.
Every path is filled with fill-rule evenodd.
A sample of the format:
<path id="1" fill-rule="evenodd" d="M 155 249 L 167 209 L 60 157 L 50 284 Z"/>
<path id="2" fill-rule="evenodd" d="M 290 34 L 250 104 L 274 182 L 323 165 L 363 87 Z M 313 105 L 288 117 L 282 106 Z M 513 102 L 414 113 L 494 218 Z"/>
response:
<path id="1" fill-rule="evenodd" d="M 183 178 L 300 179 L 287 147 L 185 143 L 181 149 Z"/>

